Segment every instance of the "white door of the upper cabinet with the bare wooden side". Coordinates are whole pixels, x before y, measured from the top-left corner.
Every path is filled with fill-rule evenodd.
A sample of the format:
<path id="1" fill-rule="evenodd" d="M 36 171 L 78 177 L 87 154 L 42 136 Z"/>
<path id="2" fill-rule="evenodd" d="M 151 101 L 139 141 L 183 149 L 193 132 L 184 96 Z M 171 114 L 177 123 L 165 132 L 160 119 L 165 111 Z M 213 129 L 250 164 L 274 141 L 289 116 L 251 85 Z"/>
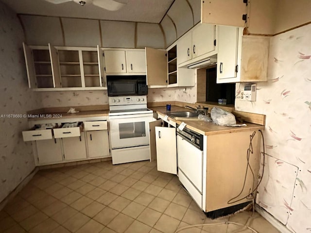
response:
<path id="1" fill-rule="evenodd" d="M 238 36 L 239 28 L 237 27 L 219 27 L 217 83 L 220 80 L 237 77 Z"/>

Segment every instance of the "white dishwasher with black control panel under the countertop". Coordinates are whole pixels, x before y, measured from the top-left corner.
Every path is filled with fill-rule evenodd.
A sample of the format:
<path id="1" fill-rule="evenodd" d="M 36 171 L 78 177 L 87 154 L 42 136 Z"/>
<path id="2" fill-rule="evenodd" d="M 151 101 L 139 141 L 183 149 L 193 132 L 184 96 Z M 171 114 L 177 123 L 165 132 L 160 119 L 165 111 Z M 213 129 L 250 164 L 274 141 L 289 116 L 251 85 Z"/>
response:
<path id="1" fill-rule="evenodd" d="M 177 158 L 179 180 L 202 208 L 203 135 L 177 128 Z"/>

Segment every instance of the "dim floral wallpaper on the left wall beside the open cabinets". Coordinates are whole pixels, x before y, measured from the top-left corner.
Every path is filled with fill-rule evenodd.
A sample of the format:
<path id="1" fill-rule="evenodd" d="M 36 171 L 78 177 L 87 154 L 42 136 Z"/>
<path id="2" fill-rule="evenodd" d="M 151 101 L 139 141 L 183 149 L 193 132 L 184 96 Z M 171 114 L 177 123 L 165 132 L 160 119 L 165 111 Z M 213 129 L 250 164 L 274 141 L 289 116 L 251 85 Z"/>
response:
<path id="1" fill-rule="evenodd" d="M 28 129 L 27 118 L 7 116 L 42 107 L 28 89 L 23 38 L 16 14 L 0 2 L 0 202 L 35 168 L 32 146 L 21 133 Z"/>

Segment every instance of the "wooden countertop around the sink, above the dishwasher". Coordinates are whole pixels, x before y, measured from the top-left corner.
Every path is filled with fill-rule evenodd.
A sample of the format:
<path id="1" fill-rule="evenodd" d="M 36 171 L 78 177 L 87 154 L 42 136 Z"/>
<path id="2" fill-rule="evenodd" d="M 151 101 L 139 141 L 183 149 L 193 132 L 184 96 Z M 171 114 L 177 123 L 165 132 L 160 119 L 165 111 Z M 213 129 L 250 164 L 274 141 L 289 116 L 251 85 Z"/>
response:
<path id="1" fill-rule="evenodd" d="M 163 107 L 151 107 L 158 114 L 167 115 L 166 106 Z M 184 112 L 191 111 L 190 109 L 186 109 L 183 107 L 172 106 L 171 112 Z M 174 118 L 169 117 L 169 120 L 176 122 L 177 124 L 181 124 L 185 122 L 187 124 L 187 128 L 201 133 L 203 135 L 212 135 L 212 134 L 221 134 L 221 133 L 234 133 L 234 132 L 243 132 L 243 131 L 251 131 L 251 130 L 263 130 L 264 125 L 259 125 L 255 123 L 245 122 L 247 126 L 241 127 L 229 127 L 229 126 L 220 126 L 216 125 L 212 122 L 205 122 L 203 120 L 175 120 Z"/>

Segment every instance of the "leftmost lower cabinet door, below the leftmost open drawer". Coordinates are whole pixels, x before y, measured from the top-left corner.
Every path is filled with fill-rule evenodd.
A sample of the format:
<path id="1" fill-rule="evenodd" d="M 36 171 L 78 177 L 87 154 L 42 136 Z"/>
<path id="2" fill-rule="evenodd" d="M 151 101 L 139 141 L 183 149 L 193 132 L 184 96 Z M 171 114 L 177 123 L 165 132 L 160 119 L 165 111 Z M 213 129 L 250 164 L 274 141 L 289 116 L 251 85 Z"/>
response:
<path id="1" fill-rule="evenodd" d="M 60 139 L 35 141 L 38 155 L 38 164 L 53 164 L 63 161 Z"/>

